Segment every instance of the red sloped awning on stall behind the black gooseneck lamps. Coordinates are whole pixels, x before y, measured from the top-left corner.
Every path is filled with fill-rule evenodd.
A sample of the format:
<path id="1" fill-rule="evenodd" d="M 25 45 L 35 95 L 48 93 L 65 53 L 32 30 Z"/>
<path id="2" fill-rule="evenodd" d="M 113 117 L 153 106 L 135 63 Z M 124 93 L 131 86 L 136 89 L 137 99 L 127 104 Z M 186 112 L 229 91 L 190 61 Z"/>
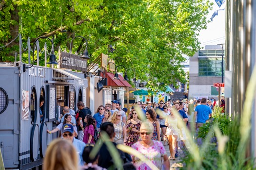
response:
<path id="1" fill-rule="evenodd" d="M 103 74 L 100 73 L 100 76 L 103 77 Z M 109 86 L 118 86 L 118 87 L 131 87 L 131 85 L 127 81 L 123 81 L 123 77 L 118 75 L 120 80 L 113 79 L 115 75 L 110 72 L 106 72 L 106 78 L 107 78 L 107 85 Z"/>

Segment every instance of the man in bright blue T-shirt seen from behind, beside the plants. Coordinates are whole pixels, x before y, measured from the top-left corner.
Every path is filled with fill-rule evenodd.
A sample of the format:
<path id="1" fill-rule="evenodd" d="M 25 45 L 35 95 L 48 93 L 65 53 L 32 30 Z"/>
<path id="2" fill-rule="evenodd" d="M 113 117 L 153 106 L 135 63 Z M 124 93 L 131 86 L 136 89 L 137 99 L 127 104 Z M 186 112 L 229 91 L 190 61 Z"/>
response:
<path id="1" fill-rule="evenodd" d="M 212 117 L 212 109 L 206 105 L 206 99 L 202 98 L 201 104 L 197 105 L 194 113 L 194 119 L 197 117 L 197 128 L 200 128 L 209 117 Z"/>

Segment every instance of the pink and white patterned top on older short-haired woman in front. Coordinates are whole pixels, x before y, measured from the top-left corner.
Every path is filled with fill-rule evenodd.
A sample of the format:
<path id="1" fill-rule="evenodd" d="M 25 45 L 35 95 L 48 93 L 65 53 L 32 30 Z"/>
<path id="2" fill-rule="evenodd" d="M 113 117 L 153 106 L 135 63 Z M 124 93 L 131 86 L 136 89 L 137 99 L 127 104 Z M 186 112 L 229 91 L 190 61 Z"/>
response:
<path id="1" fill-rule="evenodd" d="M 132 145 L 134 149 L 136 149 L 138 152 L 142 153 L 145 157 L 147 157 L 154 165 L 158 167 L 159 170 L 161 170 L 162 166 L 162 160 L 163 155 L 166 154 L 166 151 L 164 149 L 164 146 L 161 142 L 157 140 L 152 140 L 153 145 L 146 148 L 144 147 L 140 141 L 136 142 Z M 150 170 L 150 168 L 145 164 L 144 162 L 140 161 L 137 157 L 132 155 L 132 158 L 135 160 L 135 167 L 136 170 Z"/>

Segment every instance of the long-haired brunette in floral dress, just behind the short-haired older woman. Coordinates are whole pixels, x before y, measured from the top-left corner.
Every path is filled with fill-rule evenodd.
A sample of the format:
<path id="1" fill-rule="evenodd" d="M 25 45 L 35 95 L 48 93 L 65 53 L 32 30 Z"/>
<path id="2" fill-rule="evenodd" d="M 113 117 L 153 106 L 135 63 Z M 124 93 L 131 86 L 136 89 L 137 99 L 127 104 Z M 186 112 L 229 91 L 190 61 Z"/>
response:
<path id="1" fill-rule="evenodd" d="M 160 123 L 157 120 L 157 113 L 153 109 L 148 109 L 146 112 L 147 121 L 154 126 L 153 140 L 160 141 Z"/>

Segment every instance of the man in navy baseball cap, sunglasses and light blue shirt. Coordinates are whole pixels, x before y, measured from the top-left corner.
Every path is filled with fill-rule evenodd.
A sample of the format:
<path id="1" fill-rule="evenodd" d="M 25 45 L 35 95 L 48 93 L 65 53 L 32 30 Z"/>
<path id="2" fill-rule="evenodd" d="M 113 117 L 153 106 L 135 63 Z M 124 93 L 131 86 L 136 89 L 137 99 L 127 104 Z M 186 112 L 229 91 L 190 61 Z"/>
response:
<path id="1" fill-rule="evenodd" d="M 74 147 L 77 150 L 77 153 L 79 154 L 79 165 L 83 166 L 84 161 L 82 153 L 85 147 L 85 143 L 75 138 L 74 128 L 71 124 L 64 124 L 62 126 L 62 137 L 64 140 L 68 140 L 71 143 L 73 143 Z"/>

